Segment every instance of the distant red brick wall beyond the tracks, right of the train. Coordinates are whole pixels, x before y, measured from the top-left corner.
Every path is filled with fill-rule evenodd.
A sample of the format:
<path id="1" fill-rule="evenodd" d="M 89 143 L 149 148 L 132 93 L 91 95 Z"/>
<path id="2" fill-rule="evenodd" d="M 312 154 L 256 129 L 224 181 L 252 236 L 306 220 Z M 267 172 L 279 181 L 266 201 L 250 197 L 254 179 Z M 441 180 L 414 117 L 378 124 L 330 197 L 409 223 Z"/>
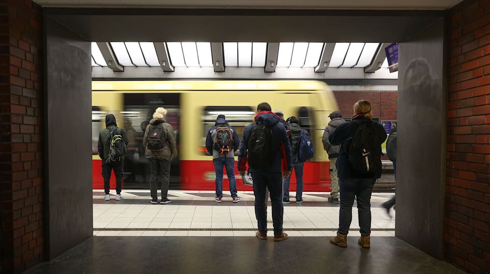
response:
<path id="1" fill-rule="evenodd" d="M 352 106 L 360 99 L 371 102 L 372 114 L 380 120 L 396 120 L 397 91 L 334 91 L 343 116 L 352 116 Z"/>

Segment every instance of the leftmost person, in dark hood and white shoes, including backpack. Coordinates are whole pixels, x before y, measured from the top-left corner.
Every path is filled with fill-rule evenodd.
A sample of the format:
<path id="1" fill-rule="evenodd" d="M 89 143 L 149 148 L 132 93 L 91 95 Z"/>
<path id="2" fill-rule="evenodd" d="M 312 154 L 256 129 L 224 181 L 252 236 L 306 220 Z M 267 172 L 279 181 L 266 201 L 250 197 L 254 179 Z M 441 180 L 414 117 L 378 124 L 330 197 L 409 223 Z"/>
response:
<path id="1" fill-rule="evenodd" d="M 111 172 L 116 177 L 116 201 L 123 200 L 121 188 L 123 185 L 123 157 L 126 153 L 128 139 L 124 130 L 118 128 L 113 114 L 105 116 L 106 128 L 98 135 L 98 156 L 102 159 L 102 177 L 104 177 L 104 200 L 109 201 Z"/>

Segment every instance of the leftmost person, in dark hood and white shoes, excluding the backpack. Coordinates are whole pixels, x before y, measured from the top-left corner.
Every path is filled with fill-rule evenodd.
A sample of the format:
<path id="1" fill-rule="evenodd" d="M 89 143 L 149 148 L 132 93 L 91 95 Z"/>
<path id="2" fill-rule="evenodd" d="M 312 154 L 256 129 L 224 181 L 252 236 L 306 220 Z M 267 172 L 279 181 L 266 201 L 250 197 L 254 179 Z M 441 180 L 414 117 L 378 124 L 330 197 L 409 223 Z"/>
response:
<path id="1" fill-rule="evenodd" d="M 98 135 L 98 156 L 102 159 L 102 177 L 104 178 L 104 200 L 110 200 L 111 172 L 114 170 L 114 176 L 116 177 L 116 200 L 120 201 L 123 200 L 123 195 L 121 195 L 123 185 L 123 159 L 110 157 L 111 133 L 113 135 L 120 135 L 125 145 L 128 144 L 128 139 L 124 130 L 118 127 L 116 117 L 113 114 L 107 114 L 105 116 L 105 127 Z"/>

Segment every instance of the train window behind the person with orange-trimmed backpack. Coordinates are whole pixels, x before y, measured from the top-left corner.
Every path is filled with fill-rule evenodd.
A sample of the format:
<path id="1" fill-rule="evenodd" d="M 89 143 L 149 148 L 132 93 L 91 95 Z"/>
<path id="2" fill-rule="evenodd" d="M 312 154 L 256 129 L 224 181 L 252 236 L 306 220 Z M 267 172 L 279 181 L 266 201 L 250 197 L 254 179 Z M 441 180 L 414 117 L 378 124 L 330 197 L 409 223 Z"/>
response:
<path id="1" fill-rule="evenodd" d="M 255 112 L 251 107 L 243 107 L 243 106 L 210 106 L 204 108 L 204 112 L 202 114 L 202 124 L 203 131 L 201 137 L 201 145 L 199 146 L 199 150 L 204 155 L 209 155 L 206 150 L 206 136 L 208 135 L 209 129 L 215 125 L 216 117 L 219 114 L 223 114 L 226 117 L 229 125 L 232 126 L 237 134 L 240 141 L 242 139 L 245 127 L 253 122 L 253 118 L 255 116 Z M 235 155 L 238 155 L 238 151 L 235 151 Z"/>

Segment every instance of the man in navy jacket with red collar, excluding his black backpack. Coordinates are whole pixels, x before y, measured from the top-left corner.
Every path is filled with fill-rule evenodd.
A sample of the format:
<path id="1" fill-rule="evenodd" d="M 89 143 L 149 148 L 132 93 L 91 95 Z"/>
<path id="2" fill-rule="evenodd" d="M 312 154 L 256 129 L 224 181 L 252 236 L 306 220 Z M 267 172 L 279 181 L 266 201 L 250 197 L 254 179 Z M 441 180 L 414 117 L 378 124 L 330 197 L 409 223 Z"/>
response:
<path id="1" fill-rule="evenodd" d="M 253 179 L 253 194 L 255 195 L 255 217 L 258 230 L 255 233 L 259 239 L 267 240 L 267 200 L 266 191 L 269 189 L 272 203 L 272 225 L 274 227 L 274 241 L 282 241 L 288 238 L 283 232 L 282 183 L 283 178 L 291 174 L 293 168 L 291 161 L 291 145 L 286 128 L 279 122 L 279 116 L 271 112 L 270 105 L 266 102 L 257 106 L 255 121 L 270 128 L 273 136 L 271 151 L 271 163 L 265 169 L 249 169 Z M 238 170 L 240 175 L 245 175 L 247 158 L 247 134 L 253 124 L 245 127 L 244 135 L 240 141 L 240 154 L 238 155 Z"/>

